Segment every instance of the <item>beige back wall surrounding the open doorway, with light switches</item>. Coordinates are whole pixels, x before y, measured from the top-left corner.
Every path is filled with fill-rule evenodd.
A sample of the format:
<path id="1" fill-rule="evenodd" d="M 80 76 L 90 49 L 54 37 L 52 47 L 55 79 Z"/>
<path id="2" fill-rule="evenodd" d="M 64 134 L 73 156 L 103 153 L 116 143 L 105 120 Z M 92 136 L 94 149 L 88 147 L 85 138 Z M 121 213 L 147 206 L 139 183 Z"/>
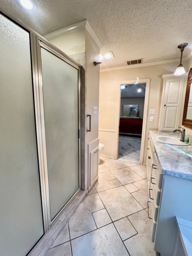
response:
<path id="1" fill-rule="evenodd" d="M 187 70 L 188 62 L 183 62 L 184 68 Z M 99 87 L 99 138 L 100 142 L 105 145 L 102 155 L 110 158 L 116 157 L 116 136 L 118 133 L 117 124 L 119 122 L 118 113 L 118 89 L 119 83 L 139 79 L 150 78 L 149 90 L 149 108 L 147 113 L 147 127 L 145 135 L 145 152 L 143 162 L 146 162 L 147 135 L 149 129 L 158 129 L 161 90 L 162 90 L 162 74 L 173 74 L 178 62 L 140 67 L 129 68 L 116 71 L 107 71 L 100 73 Z M 149 122 L 149 109 L 156 109 L 154 122 Z"/>

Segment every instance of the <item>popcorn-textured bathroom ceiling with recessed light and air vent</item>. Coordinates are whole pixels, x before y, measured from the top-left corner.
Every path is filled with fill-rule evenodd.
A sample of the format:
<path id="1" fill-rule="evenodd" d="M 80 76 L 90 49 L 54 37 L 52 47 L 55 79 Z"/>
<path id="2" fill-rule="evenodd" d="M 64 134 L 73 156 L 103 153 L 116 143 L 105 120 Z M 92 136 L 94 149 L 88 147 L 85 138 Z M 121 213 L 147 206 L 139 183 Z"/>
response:
<path id="1" fill-rule="evenodd" d="M 0 10 L 16 17 L 41 35 L 87 19 L 115 59 L 103 60 L 101 68 L 125 66 L 180 57 L 177 46 L 187 42 L 183 57 L 192 51 L 191 0 L 36 0 L 38 10 L 29 13 L 15 0 L 1 0 Z"/>

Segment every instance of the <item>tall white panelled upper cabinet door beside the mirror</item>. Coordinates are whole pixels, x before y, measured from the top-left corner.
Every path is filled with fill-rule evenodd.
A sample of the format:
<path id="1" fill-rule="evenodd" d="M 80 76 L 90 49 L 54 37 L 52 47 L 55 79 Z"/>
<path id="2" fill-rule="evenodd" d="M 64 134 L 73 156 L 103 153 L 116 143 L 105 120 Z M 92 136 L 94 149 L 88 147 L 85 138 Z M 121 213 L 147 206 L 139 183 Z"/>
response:
<path id="1" fill-rule="evenodd" d="M 184 81 L 184 77 L 167 78 L 164 80 L 160 119 L 161 131 L 173 131 L 181 123 Z"/>

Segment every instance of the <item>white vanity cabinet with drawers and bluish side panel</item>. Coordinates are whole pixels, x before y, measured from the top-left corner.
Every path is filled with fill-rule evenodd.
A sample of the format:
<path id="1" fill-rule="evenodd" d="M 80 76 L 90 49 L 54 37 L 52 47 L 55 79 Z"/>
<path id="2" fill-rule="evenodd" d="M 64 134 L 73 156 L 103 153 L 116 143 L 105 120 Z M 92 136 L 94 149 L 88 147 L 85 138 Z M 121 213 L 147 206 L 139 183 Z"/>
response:
<path id="1" fill-rule="evenodd" d="M 147 154 L 147 181 L 149 188 L 148 217 L 151 219 L 151 238 L 154 242 L 154 250 L 161 256 L 177 256 L 178 251 L 184 251 L 182 243 L 178 243 L 178 231 L 176 217 L 192 221 L 192 180 L 162 173 L 156 148 L 152 138 L 148 137 Z M 166 146 L 161 145 L 161 150 L 166 151 Z M 165 148 L 163 148 L 165 147 Z M 169 152 L 167 152 L 169 154 Z M 175 167 L 179 158 L 172 158 Z M 192 163 L 192 159 L 189 160 Z M 192 168 L 192 165 L 191 165 Z M 179 247 L 178 247 L 179 246 Z M 177 249 L 176 249 L 177 248 Z M 184 256 L 187 254 L 181 254 Z M 192 252 L 191 252 L 192 255 Z"/>

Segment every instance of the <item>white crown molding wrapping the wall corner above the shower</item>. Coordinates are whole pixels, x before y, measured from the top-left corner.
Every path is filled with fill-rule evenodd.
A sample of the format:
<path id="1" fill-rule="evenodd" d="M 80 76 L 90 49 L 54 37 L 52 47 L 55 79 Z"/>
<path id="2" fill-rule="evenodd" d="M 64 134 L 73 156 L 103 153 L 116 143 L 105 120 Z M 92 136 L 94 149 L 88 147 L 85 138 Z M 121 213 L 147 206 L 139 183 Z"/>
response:
<path id="1" fill-rule="evenodd" d="M 86 29 L 87 32 L 91 35 L 91 37 L 93 38 L 93 40 L 95 41 L 95 43 L 98 45 L 99 49 L 101 49 L 103 47 L 103 45 L 101 44 L 101 42 L 99 41 L 98 37 L 95 35 L 93 29 L 91 29 L 91 26 L 89 25 L 87 20 L 82 20 L 79 21 L 77 23 L 74 23 L 70 26 L 67 26 L 63 29 L 58 29 L 54 32 L 51 32 L 49 34 L 44 35 L 44 38 L 46 38 L 47 40 L 51 40 L 72 32 L 75 32 L 79 29 Z"/>

